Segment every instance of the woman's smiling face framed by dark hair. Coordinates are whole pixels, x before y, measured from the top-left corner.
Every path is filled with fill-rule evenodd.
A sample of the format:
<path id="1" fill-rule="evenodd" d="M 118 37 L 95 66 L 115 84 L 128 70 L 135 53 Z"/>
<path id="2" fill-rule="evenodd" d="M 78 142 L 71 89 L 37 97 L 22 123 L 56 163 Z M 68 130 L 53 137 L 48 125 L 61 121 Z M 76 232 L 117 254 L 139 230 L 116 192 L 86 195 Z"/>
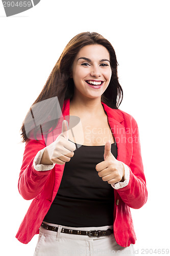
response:
<path id="1" fill-rule="evenodd" d="M 72 64 L 74 97 L 101 98 L 111 79 L 110 56 L 102 45 L 80 49 Z"/>

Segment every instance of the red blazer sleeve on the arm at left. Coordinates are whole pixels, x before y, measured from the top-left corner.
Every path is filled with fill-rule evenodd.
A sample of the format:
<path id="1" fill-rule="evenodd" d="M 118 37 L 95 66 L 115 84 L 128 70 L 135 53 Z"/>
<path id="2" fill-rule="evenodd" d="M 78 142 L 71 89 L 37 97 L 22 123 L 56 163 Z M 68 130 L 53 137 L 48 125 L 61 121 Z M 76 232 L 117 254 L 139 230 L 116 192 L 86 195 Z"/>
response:
<path id="1" fill-rule="evenodd" d="M 41 193 L 47 177 L 51 173 L 51 170 L 38 172 L 34 168 L 34 158 L 37 152 L 45 146 L 44 140 L 28 139 L 26 141 L 18 180 L 19 193 L 26 200 L 31 200 Z"/>

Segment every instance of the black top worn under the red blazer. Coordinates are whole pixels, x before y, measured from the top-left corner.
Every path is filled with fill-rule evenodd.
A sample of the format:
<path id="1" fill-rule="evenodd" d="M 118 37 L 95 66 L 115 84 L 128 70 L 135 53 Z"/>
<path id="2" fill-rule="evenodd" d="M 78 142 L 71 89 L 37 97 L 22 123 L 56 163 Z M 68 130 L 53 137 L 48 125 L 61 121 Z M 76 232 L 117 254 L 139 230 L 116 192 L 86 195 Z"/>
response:
<path id="1" fill-rule="evenodd" d="M 58 193 L 44 221 L 70 227 L 113 225 L 114 188 L 99 177 L 95 165 L 104 161 L 105 146 L 76 144 L 65 163 Z M 117 158 L 117 146 L 111 146 Z"/>

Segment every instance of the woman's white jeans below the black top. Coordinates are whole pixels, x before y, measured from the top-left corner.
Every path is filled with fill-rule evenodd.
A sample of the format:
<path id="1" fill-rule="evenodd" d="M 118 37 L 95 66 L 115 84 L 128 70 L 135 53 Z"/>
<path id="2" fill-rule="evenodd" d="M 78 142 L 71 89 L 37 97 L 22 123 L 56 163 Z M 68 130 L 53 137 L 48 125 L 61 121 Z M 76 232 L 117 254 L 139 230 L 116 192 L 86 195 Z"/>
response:
<path id="1" fill-rule="evenodd" d="M 108 255 L 135 255 L 134 247 L 122 247 L 115 241 L 114 234 L 106 237 L 89 237 L 78 234 L 66 234 L 61 228 L 76 230 L 107 230 L 113 226 L 103 227 L 67 227 L 44 222 L 47 225 L 58 227 L 58 231 L 47 230 L 40 227 L 37 246 L 34 256 L 108 256 Z"/>

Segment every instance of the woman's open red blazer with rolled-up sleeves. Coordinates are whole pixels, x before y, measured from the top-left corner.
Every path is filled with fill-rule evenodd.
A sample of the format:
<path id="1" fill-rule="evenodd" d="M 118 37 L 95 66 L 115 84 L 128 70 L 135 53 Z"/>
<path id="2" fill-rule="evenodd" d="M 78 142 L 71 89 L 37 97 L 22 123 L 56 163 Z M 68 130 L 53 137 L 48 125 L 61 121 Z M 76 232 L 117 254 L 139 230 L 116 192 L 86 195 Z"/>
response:
<path id="1" fill-rule="evenodd" d="M 63 117 L 69 117 L 69 102 L 69 99 L 64 101 Z M 135 244 L 136 240 L 130 207 L 140 208 L 147 201 L 138 126 L 131 115 L 111 109 L 103 102 L 102 104 L 116 140 L 117 160 L 124 162 L 130 168 L 128 185 L 114 189 L 114 236 L 117 244 L 127 247 Z M 37 152 L 52 143 L 61 133 L 61 123 L 62 120 L 56 128 L 56 135 L 48 134 L 46 141 L 43 138 L 39 141 L 30 139 L 26 141 L 18 189 L 24 199 L 33 199 L 33 201 L 16 234 L 16 238 L 21 243 L 29 243 L 34 234 L 39 233 L 39 227 L 59 189 L 64 164 L 56 164 L 52 170 L 38 172 L 34 169 L 33 161 Z"/>

